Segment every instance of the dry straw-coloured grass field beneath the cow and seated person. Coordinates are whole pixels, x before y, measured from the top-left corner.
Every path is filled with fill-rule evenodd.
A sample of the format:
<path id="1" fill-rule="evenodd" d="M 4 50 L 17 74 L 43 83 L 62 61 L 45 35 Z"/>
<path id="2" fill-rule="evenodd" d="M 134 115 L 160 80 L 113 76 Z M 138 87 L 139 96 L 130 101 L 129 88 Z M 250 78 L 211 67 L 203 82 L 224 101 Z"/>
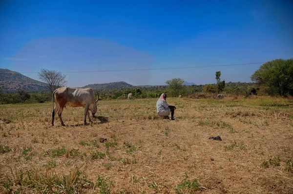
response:
<path id="1" fill-rule="evenodd" d="M 175 121 L 156 100 L 101 100 L 87 126 L 66 107 L 66 127 L 51 103 L 0 105 L 0 193 L 293 194 L 292 99 L 167 98 Z"/>

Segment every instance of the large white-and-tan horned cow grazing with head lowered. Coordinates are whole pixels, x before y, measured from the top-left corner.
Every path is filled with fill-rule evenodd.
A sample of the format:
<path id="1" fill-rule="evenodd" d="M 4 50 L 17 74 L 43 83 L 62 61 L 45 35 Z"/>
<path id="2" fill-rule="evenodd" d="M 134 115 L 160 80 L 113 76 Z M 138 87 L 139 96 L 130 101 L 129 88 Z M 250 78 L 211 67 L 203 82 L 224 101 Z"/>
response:
<path id="1" fill-rule="evenodd" d="M 98 93 L 98 92 L 97 92 Z M 89 111 L 91 111 L 92 116 L 97 112 L 97 102 L 99 100 L 95 99 L 94 92 L 91 88 L 69 88 L 62 87 L 58 88 L 53 92 L 53 112 L 52 112 L 52 126 L 54 125 L 54 116 L 58 113 L 61 121 L 61 125 L 65 126 L 62 120 L 63 108 L 68 105 L 71 107 L 84 107 L 84 124 L 86 125 L 86 115 L 88 116 L 89 122 L 91 122 L 89 117 Z M 55 102 L 55 106 L 54 106 Z"/>

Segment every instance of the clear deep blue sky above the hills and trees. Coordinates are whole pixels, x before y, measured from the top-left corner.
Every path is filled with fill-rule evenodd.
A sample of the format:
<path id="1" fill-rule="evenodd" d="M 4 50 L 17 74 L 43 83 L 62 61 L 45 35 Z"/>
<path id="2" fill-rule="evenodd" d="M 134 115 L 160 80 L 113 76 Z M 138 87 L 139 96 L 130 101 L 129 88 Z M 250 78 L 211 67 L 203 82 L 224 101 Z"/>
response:
<path id="1" fill-rule="evenodd" d="M 250 82 L 261 63 L 168 68 L 293 58 L 292 10 L 292 0 L 1 0 L 0 68 L 37 80 L 61 71 L 71 87 L 206 84 L 216 71 Z"/>

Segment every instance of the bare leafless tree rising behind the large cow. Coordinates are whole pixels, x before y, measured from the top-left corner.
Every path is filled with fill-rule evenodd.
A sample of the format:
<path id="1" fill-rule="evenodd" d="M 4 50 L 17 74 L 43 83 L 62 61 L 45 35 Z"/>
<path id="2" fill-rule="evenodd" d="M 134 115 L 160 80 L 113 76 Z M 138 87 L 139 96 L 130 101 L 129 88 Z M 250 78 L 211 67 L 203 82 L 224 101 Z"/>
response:
<path id="1" fill-rule="evenodd" d="M 57 88 L 63 87 L 67 83 L 65 80 L 66 75 L 55 70 L 41 69 L 41 72 L 38 74 L 39 78 L 47 84 L 51 94 L 53 94 Z"/>

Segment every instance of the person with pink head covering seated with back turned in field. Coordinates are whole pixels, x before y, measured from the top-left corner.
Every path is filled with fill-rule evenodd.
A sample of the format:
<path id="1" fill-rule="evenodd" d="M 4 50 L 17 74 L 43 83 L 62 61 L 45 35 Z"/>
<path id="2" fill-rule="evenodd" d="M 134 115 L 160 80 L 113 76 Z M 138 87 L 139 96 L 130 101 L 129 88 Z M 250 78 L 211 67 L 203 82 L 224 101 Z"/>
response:
<path id="1" fill-rule="evenodd" d="M 164 118 L 169 118 L 171 113 L 171 120 L 175 120 L 174 111 L 176 109 L 175 106 L 170 106 L 166 102 L 167 94 L 161 94 L 161 97 L 157 101 L 157 113 L 159 116 L 164 116 Z"/>

